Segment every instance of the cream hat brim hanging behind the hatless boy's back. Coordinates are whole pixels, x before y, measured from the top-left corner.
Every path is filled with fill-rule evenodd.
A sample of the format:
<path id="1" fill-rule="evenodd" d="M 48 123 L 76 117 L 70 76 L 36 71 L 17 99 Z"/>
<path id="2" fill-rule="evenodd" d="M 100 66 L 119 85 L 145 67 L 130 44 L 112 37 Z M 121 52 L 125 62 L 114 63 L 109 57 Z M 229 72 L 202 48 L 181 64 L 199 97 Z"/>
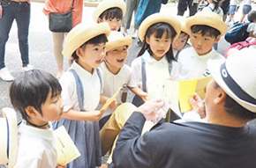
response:
<path id="1" fill-rule="evenodd" d="M 18 126 L 17 117 L 13 109 L 4 107 L 3 114 L 7 118 L 9 125 L 9 164 L 8 167 L 12 168 L 16 164 L 18 152 Z"/>

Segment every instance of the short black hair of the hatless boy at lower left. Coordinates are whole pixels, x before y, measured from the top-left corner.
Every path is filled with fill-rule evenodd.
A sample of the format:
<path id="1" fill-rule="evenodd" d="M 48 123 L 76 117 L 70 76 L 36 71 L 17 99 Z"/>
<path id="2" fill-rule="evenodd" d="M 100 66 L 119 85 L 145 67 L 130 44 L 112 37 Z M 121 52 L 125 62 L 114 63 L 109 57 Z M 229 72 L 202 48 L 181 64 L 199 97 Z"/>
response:
<path id="1" fill-rule="evenodd" d="M 53 98 L 60 95 L 61 91 L 61 85 L 56 77 L 44 70 L 32 69 L 21 73 L 12 82 L 10 87 L 11 105 L 27 121 L 29 119 L 26 114 L 27 106 L 33 106 L 41 113 L 41 105 L 46 101 L 49 92 Z"/>

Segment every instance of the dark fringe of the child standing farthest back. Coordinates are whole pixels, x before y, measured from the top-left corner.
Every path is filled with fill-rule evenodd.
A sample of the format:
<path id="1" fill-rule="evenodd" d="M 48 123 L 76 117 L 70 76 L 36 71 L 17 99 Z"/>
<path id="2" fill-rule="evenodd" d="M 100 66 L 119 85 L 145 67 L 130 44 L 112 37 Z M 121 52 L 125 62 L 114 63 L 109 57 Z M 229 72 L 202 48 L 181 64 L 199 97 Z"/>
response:
<path id="1" fill-rule="evenodd" d="M 102 14 L 100 15 L 99 18 L 105 18 L 106 20 L 111 18 L 117 18 L 122 20 L 123 19 L 123 11 L 120 8 L 114 7 L 114 8 L 109 8 L 106 11 L 103 11 Z"/>

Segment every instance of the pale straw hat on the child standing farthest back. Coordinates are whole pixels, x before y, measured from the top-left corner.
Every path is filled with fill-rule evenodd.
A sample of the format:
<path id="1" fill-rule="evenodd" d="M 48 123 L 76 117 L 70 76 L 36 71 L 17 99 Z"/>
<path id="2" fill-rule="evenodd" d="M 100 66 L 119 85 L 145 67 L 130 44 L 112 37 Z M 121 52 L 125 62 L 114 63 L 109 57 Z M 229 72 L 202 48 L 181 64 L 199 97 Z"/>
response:
<path id="1" fill-rule="evenodd" d="M 94 10 L 93 18 L 96 23 L 98 23 L 98 18 L 100 18 L 101 14 L 109 10 L 110 8 L 120 8 L 123 11 L 123 17 L 126 11 L 126 5 L 124 0 L 105 0 L 100 3 L 96 9 Z"/>

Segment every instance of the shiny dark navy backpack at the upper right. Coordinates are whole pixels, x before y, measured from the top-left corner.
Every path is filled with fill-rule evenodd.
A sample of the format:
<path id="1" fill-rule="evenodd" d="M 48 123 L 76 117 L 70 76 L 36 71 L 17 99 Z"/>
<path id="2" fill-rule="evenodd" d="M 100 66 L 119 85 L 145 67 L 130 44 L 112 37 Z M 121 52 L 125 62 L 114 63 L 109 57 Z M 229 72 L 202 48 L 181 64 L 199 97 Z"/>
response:
<path id="1" fill-rule="evenodd" d="M 237 23 L 234 26 L 231 26 L 228 33 L 224 36 L 225 40 L 230 42 L 230 44 L 246 40 L 249 37 L 249 33 L 247 32 L 249 24 L 250 23 Z"/>

